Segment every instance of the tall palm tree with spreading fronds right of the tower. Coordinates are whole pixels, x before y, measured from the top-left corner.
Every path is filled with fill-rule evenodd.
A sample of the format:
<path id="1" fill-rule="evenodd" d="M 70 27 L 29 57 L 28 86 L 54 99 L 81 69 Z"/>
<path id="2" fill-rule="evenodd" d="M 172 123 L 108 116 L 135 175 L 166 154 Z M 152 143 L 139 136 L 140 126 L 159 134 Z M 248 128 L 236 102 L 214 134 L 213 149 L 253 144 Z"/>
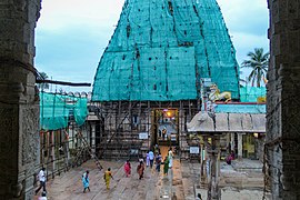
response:
<path id="1" fill-rule="evenodd" d="M 257 83 L 257 87 L 260 87 L 268 71 L 270 53 L 264 53 L 263 48 L 256 48 L 254 52 L 249 52 L 247 56 L 249 60 L 244 60 L 241 67 L 252 69 L 248 81 L 251 81 L 252 87 L 254 83 Z"/>

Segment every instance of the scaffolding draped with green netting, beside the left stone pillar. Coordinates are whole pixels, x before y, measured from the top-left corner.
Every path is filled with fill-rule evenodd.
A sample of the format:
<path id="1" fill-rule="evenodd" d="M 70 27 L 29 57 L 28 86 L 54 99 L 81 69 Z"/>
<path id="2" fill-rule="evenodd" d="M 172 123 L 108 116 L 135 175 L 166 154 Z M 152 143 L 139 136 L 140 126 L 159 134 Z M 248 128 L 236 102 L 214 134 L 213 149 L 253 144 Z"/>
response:
<path id="1" fill-rule="evenodd" d="M 40 164 L 47 177 L 68 171 L 94 154 L 94 134 L 88 119 L 88 99 L 91 93 L 46 93 L 40 92 Z"/>

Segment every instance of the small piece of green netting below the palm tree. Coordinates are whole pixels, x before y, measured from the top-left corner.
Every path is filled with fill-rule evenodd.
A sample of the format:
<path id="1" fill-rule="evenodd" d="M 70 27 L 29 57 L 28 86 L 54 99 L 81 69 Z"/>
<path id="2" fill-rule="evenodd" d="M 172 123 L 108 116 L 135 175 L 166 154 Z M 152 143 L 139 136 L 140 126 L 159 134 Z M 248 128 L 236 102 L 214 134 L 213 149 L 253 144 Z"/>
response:
<path id="1" fill-rule="evenodd" d="M 241 87 L 240 88 L 241 102 L 257 102 L 258 98 L 267 96 L 266 87 Z"/>

